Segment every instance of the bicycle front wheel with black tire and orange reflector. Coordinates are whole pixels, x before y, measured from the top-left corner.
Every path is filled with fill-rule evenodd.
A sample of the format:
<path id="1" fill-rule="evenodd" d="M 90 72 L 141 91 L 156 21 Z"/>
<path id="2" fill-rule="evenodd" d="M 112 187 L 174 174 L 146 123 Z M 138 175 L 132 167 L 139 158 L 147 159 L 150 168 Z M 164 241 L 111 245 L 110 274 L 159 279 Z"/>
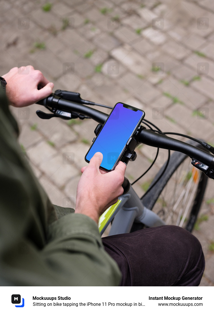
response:
<path id="1" fill-rule="evenodd" d="M 204 148 L 195 141 L 190 144 Z M 163 171 L 160 169 L 152 183 Z M 157 184 L 142 197 L 142 203 L 157 213 L 167 225 L 192 231 L 204 197 L 207 176 L 191 165 L 190 158 L 174 152 L 169 165 Z M 152 185 L 151 183 L 151 185 Z"/>

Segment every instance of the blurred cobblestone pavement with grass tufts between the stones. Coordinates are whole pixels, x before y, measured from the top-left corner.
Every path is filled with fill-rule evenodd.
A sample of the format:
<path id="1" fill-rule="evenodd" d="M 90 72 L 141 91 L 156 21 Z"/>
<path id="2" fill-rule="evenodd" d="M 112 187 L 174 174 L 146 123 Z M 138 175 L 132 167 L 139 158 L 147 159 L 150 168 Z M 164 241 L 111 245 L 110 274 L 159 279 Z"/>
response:
<path id="1" fill-rule="evenodd" d="M 109 106 L 125 102 L 144 109 L 163 131 L 214 143 L 212 0 L 50 2 L 0 1 L 1 75 L 31 64 L 56 89 Z M 51 201 L 74 207 L 96 123 L 41 120 L 37 109 L 41 106 L 12 109 L 21 127 L 19 141 Z M 138 164 L 129 163 L 128 178 L 150 165 L 153 152 L 146 146 L 138 150 Z M 137 193 L 161 163 L 136 184 Z M 213 188 L 209 180 L 194 232 L 206 257 L 202 286 L 214 285 Z"/>

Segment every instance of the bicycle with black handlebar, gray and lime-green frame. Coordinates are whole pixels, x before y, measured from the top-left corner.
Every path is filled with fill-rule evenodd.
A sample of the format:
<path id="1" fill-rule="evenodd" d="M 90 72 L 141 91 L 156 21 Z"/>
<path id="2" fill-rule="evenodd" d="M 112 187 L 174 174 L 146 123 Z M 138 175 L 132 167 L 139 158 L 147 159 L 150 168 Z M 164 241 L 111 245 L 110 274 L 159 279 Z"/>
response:
<path id="1" fill-rule="evenodd" d="M 56 90 L 54 94 L 39 101 L 38 104 L 45 106 L 52 112 L 52 114 L 47 114 L 40 110 L 37 111 L 37 115 L 42 119 L 50 119 L 51 117 L 60 117 L 66 120 L 76 118 L 94 119 L 99 123 L 94 130 L 95 135 L 99 133 L 108 115 L 87 105 L 111 108 L 110 106 L 83 100 L 79 93 L 63 90 Z M 136 159 L 134 150 L 140 143 L 158 148 L 156 157 L 147 171 L 154 165 L 159 148 L 176 152 L 171 157 L 169 152 L 168 160 L 141 198 L 137 196 L 132 185 L 142 178 L 147 171 L 132 184 L 125 178 L 123 195 L 99 219 L 101 235 L 110 223 L 109 235 L 129 233 L 145 227 L 165 224 L 178 225 L 190 232 L 192 231 L 200 211 L 207 179 L 208 177 L 214 179 L 214 156 L 211 154 L 214 153 L 214 148 L 206 142 L 186 135 L 181 136 L 189 138 L 189 143 L 173 139 L 167 134 L 180 135 L 163 133 L 153 123 L 146 119 L 142 121 L 142 125 L 135 135 L 136 145 L 133 147 L 127 145 L 123 159 L 125 163 Z M 188 162 L 188 157 L 192 158 L 191 163 Z M 170 184 L 170 190 L 173 194 L 171 198 L 166 198 L 163 195 L 164 191 L 168 192 L 167 183 Z M 176 197 L 177 194 L 178 197 Z"/>

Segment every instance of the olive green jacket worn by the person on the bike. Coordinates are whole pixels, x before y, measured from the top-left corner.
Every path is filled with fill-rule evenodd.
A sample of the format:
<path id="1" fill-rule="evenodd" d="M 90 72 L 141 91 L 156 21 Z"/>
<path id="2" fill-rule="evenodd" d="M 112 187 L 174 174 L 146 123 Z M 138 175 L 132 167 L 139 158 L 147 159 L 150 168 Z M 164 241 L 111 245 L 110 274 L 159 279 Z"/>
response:
<path id="1" fill-rule="evenodd" d="M 0 284 L 119 285 L 119 268 L 96 223 L 51 204 L 21 152 L 17 130 L 0 97 Z"/>

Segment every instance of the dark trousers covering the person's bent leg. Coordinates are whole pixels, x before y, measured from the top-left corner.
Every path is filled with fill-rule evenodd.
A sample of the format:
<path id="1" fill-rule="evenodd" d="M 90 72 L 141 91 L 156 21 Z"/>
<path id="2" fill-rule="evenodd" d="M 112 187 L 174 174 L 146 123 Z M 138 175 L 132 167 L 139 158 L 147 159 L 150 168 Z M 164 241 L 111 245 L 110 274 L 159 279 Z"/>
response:
<path id="1" fill-rule="evenodd" d="M 198 286 L 201 244 L 178 226 L 159 226 L 102 238 L 122 272 L 121 286 Z"/>

